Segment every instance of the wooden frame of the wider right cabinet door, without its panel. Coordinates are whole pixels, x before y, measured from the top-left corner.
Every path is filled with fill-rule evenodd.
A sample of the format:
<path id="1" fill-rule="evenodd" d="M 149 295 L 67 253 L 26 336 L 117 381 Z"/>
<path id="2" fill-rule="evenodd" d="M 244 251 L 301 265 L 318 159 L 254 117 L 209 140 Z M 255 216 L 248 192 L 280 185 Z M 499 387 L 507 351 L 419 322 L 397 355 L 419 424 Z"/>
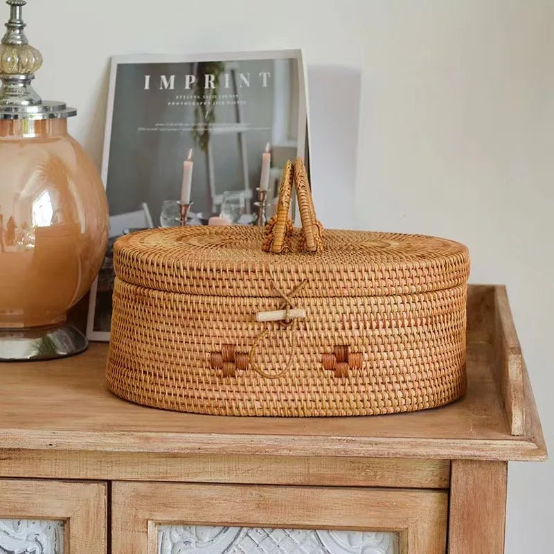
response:
<path id="1" fill-rule="evenodd" d="M 445 554 L 448 493 L 441 490 L 112 484 L 112 554 L 157 554 L 158 526 L 375 530 L 398 533 L 401 554 Z"/>

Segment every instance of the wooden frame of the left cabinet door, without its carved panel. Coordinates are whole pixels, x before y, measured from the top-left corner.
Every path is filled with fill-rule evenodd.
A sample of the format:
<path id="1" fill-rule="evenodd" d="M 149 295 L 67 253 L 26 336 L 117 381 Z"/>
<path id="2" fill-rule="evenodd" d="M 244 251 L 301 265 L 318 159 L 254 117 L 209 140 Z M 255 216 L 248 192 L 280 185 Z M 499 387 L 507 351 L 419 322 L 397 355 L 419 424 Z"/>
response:
<path id="1" fill-rule="evenodd" d="M 62 520 L 63 554 L 106 554 L 107 485 L 0 479 L 0 519 Z"/>

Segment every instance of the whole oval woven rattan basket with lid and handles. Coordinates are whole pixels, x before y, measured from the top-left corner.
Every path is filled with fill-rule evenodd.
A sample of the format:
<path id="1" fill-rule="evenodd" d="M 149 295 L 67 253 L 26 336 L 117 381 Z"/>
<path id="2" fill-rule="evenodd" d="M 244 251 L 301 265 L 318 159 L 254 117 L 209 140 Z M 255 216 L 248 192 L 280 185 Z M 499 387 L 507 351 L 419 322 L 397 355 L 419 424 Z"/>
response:
<path id="1" fill-rule="evenodd" d="M 293 176 L 303 229 L 289 222 Z M 465 391 L 467 249 L 321 229 L 301 161 L 267 229 L 185 226 L 114 248 L 107 382 L 218 415 L 373 415 Z"/>

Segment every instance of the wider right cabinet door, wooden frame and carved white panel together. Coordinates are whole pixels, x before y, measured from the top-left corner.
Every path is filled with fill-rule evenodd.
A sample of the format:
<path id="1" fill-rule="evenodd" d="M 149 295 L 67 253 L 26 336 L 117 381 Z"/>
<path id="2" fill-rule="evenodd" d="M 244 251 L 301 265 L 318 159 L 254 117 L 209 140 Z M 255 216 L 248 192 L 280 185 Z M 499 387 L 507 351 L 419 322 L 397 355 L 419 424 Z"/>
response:
<path id="1" fill-rule="evenodd" d="M 445 554 L 437 490 L 122 483 L 112 553 Z"/>

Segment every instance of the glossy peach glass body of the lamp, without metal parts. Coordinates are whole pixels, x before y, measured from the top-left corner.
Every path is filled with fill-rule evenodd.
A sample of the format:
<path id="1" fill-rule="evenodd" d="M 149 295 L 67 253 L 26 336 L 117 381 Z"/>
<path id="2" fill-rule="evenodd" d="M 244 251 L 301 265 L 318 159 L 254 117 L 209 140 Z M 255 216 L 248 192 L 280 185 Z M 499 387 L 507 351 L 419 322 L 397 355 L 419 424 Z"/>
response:
<path id="1" fill-rule="evenodd" d="M 67 120 L 0 120 L 0 330 L 63 323 L 107 235 L 100 175 Z"/>

